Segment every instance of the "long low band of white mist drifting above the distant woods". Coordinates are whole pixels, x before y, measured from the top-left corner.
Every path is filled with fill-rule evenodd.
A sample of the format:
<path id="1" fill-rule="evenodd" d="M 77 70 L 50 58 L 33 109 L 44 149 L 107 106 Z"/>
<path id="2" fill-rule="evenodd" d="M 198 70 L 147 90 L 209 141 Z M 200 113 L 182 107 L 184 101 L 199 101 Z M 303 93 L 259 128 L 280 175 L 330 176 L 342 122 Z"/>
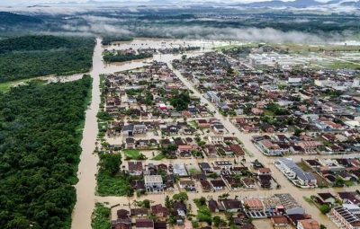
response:
<path id="1" fill-rule="evenodd" d="M 205 39 L 205 40 L 243 40 L 275 43 L 326 43 L 354 37 L 351 32 L 313 34 L 302 31 L 279 31 L 273 28 L 217 28 L 200 25 L 149 24 L 147 22 L 127 23 L 118 19 L 85 17 L 88 25 L 76 26 L 70 23 L 62 26 L 65 31 L 94 34 L 111 34 L 120 36 L 158 37 L 173 39 Z"/>

